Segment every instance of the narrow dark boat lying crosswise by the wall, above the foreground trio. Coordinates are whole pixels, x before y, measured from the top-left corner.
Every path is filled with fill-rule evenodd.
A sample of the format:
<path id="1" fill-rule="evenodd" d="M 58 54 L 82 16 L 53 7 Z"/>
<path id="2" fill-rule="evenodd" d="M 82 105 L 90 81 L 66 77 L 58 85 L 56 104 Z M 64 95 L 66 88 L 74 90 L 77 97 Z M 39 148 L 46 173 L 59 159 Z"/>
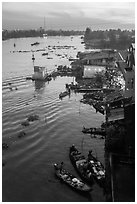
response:
<path id="1" fill-rule="evenodd" d="M 102 135 L 102 136 L 106 135 L 105 128 L 85 128 L 83 127 L 82 132 L 88 133 L 88 134 Z"/>

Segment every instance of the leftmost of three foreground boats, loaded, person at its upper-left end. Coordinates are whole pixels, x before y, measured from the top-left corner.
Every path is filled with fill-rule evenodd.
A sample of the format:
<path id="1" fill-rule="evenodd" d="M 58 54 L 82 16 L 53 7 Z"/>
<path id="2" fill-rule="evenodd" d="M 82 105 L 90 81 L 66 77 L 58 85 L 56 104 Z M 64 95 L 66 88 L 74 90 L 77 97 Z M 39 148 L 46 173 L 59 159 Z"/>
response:
<path id="1" fill-rule="evenodd" d="M 64 168 L 60 169 L 58 164 L 54 164 L 54 168 L 55 175 L 74 190 L 80 192 L 90 192 L 92 190 L 90 186 L 76 178 L 74 175 L 70 174 Z"/>

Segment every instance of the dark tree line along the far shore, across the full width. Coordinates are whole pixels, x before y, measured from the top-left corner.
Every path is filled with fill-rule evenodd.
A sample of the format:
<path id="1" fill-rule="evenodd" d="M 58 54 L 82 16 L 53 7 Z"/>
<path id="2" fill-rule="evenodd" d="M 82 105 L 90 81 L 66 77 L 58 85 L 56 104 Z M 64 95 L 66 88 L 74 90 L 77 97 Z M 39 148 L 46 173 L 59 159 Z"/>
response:
<path id="1" fill-rule="evenodd" d="M 43 37 L 46 33 L 48 36 L 71 36 L 83 35 L 86 48 L 101 49 L 127 49 L 132 42 L 135 42 L 135 30 L 91 30 L 89 27 L 86 31 L 74 30 L 46 30 L 40 28 L 37 30 L 3 30 L 2 40 L 10 38 L 26 38 L 26 37 Z"/>

